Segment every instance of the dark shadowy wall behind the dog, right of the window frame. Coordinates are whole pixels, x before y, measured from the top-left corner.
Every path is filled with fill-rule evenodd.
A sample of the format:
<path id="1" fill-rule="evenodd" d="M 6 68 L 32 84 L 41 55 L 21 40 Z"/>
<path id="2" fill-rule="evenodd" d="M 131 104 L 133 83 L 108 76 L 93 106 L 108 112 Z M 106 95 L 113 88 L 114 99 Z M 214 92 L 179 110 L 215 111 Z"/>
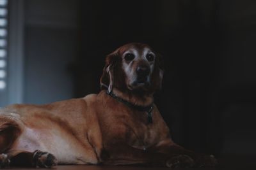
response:
<path id="1" fill-rule="evenodd" d="M 155 101 L 173 140 L 255 157 L 255 0 L 25 0 L 24 9 L 24 103 L 97 93 L 104 57 L 147 43 L 164 58 Z"/>

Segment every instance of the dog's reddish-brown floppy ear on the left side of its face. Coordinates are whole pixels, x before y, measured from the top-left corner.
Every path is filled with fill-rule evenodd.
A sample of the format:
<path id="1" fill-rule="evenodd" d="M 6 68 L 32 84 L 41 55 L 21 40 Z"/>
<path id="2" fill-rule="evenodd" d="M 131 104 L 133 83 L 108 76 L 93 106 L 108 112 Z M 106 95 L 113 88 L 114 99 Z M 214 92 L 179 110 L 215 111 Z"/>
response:
<path id="1" fill-rule="evenodd" d="M 108 89 L 111 92 L 114 82 L 114 68 L 117 60 L 117 52 L 110 53 L 106 57 L 106 65 L 103 68 L 103 74 L 100 78 L 100 89 Z"/>

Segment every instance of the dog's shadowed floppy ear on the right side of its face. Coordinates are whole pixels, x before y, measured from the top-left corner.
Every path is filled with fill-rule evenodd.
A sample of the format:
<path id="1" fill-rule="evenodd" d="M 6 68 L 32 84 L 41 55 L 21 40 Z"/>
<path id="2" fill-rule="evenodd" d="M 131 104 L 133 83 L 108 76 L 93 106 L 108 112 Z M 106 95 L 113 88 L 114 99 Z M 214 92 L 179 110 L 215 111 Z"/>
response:
<path id="1" fill-rule="evenodd" d="M 162 88 L 163 73 L 163 57 L 159 53 L 156 53 L 155 66 L 152 73 L 152 86 L 154 91 Z"/>

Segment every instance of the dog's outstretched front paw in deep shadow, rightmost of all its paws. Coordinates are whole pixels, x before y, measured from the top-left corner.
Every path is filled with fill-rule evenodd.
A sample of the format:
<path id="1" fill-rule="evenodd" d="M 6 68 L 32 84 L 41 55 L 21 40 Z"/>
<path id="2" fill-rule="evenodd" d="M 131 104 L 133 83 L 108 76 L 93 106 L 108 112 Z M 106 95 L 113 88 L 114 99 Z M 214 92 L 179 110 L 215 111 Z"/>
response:
<path id="1" fill-rule="evenodd" d="M 214 167 L 217 166 L 218 161 L 214 155 L 201 155 L 196 160 L 196 167 Z"/>

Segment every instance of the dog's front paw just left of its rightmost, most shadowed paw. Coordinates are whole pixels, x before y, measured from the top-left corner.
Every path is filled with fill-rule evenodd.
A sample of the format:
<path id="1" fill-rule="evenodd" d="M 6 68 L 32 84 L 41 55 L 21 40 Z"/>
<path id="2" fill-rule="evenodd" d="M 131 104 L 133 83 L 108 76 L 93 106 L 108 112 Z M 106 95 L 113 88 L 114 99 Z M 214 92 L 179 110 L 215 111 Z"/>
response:
<path id="1" fill-rule="evenodd" d="M 166 166 L 172 169 L 178 167 L 193 167 L 195 162 L 188 155 L 177 155 L 167 160 Z"/>

